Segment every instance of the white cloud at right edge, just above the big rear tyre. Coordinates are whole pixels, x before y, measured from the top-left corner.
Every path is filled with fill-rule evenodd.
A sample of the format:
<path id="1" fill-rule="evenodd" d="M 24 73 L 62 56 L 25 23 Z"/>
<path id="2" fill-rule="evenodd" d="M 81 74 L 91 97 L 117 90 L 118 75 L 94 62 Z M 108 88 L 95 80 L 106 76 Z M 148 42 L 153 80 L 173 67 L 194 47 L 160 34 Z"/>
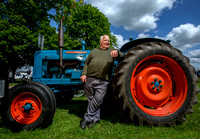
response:
<path id="1" fill-rule="evenodd" d="M 172 46 L 180 49 L 195 69 L 200 70 L 200 49 L 195 49 L 195 46 L 200 45 L 200 25 L 183 24 L 173 28 L 166 37 L 155 37 L 171 40 Z"/>

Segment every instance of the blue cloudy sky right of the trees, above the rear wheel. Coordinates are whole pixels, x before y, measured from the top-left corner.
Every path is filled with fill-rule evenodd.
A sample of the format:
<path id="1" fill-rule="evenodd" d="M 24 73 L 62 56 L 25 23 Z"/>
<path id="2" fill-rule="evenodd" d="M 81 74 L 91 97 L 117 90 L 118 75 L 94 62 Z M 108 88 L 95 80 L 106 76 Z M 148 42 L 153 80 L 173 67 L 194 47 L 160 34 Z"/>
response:
<path id="1" fill-rule="evenodd" d="M 84 0 L 111 23 L 120 48 L 129 37 L 171 40 L 200 70 L 200 0 Z"/>

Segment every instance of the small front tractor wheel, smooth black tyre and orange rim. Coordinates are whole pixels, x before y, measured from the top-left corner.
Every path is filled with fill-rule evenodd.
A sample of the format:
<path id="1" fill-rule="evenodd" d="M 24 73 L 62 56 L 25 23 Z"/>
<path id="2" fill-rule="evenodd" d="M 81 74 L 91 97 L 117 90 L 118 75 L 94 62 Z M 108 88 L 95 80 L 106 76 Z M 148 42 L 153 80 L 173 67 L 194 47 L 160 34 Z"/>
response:
<path id="1" fill-rule="evenodd" d="M 55 108 L 55 98 L 48 88 L 23 82 L 6 94 L 1 115 L 11 130 L 30 130 L 51 123 Z"/>

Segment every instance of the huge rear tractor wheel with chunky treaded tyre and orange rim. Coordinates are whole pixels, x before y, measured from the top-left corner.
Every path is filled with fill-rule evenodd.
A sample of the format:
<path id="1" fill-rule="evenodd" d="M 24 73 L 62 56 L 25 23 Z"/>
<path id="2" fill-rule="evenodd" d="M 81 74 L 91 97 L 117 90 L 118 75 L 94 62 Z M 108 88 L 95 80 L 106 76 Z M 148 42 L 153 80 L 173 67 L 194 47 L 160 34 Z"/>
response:
<path id="1" fill-rule="evenodd" d="M 164 81 L 155 78 L 150 82 L 151 78 L 162 76 Z M 135 123 L 150 126 L 185 121 L 197 103 L 196 84 L 189 59 L 180 50 L 161 42 L 143 43 L 130 49 L 113 77 L 115 97 L 123 110 Z M 163 92 L 166 98 L 159 96 Z M 154 101 L 155 98 L 159 99 Z"/>

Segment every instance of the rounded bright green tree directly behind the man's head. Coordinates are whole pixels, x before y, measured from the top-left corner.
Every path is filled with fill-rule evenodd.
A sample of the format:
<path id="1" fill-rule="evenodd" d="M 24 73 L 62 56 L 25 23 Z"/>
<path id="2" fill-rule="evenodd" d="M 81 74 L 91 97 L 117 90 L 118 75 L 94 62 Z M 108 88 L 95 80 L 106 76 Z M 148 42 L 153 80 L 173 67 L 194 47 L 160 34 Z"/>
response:
<path id="1" fill-rule="evenodd" d="M 76 5 L 63 24 L 66 49 L 81 49 L 81 40 L 86 42 L 87 49 L 93 49 L 99 45 L 100 36 L 104 34 L 110 36 L 111 46 L 116 45 L 108 18 L 90 4 Z"/>

